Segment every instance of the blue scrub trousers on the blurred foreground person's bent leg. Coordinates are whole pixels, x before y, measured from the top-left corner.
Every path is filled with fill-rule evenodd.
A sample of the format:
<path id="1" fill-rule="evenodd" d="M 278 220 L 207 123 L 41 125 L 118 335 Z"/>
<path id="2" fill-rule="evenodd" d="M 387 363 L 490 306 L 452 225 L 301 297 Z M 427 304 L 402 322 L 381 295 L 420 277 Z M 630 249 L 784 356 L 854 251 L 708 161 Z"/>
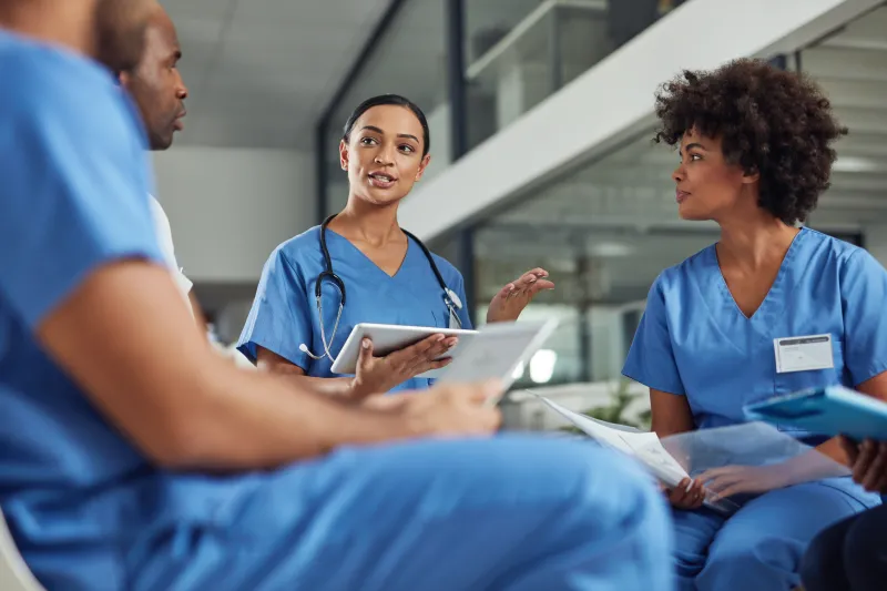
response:
<path id="1" fill-rule="evenodd" d="M 220 486 L 224 486 L 220 483 Z M 128 557 L 133 591 L 671 591 L 662 495 L 585 441 L 349 448 L 255 479 Z"/>

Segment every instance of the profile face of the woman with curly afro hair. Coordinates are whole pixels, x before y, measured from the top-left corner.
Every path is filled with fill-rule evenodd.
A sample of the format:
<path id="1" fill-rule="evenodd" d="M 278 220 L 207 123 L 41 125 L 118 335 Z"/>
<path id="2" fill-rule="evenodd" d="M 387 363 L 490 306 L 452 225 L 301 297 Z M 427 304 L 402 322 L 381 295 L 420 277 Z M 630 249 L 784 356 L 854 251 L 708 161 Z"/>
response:
<path id="1" fill-rule="evenodd" d="M 672 173 L 676 186 L 677 214 L 683 220 L 721 220 L 737 207 L 750 205 L 747 187 L 758 175 L 746 175 L 724 159 L 720 139 L 691 130 L 681 141 L 681 163 Z M 757 206 L 757 197 L 751 205 Z"/>

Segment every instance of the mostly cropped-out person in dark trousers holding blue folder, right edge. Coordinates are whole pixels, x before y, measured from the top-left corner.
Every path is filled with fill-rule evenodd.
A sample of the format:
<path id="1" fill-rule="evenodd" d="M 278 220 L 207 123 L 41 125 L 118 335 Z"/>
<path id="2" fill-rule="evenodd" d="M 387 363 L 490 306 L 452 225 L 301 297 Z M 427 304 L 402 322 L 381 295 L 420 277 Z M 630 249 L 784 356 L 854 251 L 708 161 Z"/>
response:
<path id="1" fill-rule="evenodd" d="M 887 441 L 842 438 L 853 478 L 887 495 Z M 883 591 L 887 582 L 887 506 L 857 513 L 819 533 L 801 564 L 806 591 Z"/>

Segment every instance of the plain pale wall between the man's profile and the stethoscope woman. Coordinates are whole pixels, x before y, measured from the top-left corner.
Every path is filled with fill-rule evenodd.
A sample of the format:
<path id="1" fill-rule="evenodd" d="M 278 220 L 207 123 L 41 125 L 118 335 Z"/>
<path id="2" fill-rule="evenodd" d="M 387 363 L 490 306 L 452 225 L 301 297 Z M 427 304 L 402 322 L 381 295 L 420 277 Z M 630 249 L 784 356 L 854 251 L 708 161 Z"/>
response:
<path id="1" fill-rule="evenodd" d="M 154 166 L 179 264 L 194 282 L 255 282 L 275 246 L 316 222 L 308 152 L 174 146 Z"/>

